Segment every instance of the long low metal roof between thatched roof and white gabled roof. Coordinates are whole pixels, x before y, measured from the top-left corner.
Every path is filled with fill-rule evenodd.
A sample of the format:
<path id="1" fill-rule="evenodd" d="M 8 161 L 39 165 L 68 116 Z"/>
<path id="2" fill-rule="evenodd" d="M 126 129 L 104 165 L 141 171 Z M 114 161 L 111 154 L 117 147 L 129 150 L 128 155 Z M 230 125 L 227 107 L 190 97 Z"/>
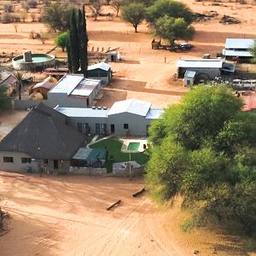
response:
<path id="1" fill-rule="evenodd" d="M 68 117 L 99 117 L 106 118 L 109 109 L 92 109 L 92 108 L 57 108 L 60 113 Z"/>

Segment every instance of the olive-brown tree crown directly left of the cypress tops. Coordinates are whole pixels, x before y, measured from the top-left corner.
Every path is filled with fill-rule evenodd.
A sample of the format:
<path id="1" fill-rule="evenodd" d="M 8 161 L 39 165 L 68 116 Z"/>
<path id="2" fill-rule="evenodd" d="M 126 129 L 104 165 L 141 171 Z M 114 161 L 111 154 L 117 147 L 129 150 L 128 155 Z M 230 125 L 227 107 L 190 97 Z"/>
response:
<path id="1" fill-rule="evenodd" d="M 70 26 L 73 7 L 63 3 L 53 3 L 44 8 L 43 22 L 47 23 L 55 32 L 65 32 Z"/>

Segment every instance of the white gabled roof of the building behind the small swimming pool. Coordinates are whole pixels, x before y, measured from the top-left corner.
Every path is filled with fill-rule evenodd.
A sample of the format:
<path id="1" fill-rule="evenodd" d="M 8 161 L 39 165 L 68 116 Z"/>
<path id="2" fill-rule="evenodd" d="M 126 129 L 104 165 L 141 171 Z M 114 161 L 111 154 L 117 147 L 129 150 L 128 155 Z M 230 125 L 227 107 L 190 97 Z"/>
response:
<path id="1" fill-rule="evenodd" d="M 137 115 L 146 116 L 151 106 L 150 102 L 138 101 L 135 99 L 114 102 L 110 108 L 108 115 L 116 113 L 135 113 Z"/>

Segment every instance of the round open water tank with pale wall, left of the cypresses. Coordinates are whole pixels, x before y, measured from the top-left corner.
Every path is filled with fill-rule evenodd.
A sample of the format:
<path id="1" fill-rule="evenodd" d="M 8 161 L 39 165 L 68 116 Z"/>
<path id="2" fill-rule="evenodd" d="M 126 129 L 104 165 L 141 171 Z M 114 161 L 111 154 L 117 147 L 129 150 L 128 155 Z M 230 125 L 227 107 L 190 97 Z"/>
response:
<path id="1" fill-rule="evenodd" d="M 13 67 L 16 70 L 42 71 L 47 67 L 54 66 L 55 56 L 49 54 L 31 54 L 30 52 L 25 52 L 23 55 L 13 58 Z"/>

